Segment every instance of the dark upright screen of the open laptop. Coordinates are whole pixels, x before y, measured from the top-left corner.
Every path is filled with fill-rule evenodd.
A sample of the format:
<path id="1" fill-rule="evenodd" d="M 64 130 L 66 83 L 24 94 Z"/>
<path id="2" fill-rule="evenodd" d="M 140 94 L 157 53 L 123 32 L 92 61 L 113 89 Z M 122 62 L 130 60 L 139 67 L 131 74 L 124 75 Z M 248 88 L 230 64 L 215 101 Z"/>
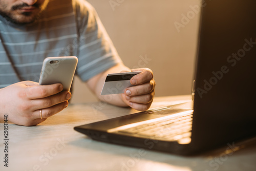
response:
<path id="1" fill-rule="evenodd" d="M 255 6 L 253 0 L 215 0 L 205 1 L 202 7 L 195 74 L 195 143 L 204 145 L 203 136 L 216 142 L 255 132 Z"/>

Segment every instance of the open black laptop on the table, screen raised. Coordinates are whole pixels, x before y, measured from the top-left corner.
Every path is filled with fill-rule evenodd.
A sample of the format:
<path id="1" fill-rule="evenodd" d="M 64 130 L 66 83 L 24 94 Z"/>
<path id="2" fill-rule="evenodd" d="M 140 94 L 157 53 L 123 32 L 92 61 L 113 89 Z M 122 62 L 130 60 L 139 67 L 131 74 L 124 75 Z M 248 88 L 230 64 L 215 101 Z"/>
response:
<path id="1" fill-rule="evenodd" d="M 255 7 L 254 0 L 203 1 L 193 101 L 74 129 L 94 140 L 178 155 L 254 137 Z"/>

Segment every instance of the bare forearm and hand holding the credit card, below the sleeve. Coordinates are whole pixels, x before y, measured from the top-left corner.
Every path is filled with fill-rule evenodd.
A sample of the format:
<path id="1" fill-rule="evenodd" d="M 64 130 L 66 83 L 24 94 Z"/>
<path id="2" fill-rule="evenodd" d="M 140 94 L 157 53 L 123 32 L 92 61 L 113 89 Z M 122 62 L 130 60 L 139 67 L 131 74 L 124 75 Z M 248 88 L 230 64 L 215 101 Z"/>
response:
<path id="1" fill-rule="evenodd" d="M 142 71 L 140 74 L 135 75 L 131 78 L 131 83 L 135 85 L 125 89 L 123 94 L 115 95 L 104 95 L 101 96 L 101 89 L 103 87 L 106 75 L 109 73 L 119 73 L 119 72 L 130 72 L 130 71 Z M 155 95 L 155 80 L 153 78 L 153 72 L 150 69 L 129 69 L 125 67 L 122 63 L 106 70 L 87 82 L 89 88 L 96 94 L 96 96 L 105 102 L 118 105 L 118 106 L 131 106 L 139 111 L 145 111 L 150 108 Z M 130 93 L 129 93 L 130 92 Z"/>

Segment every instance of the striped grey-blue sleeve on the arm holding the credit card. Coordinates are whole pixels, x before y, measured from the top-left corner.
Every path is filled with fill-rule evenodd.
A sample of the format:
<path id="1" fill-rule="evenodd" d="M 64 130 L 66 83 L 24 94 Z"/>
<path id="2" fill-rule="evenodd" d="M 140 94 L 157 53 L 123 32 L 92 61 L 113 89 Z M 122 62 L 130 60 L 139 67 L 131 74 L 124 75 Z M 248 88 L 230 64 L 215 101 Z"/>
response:
<path id="1" fill-rule="evenodd" d="M 122 62 L 95 9 L 84 0 L 74 0 L 78 32 L 76 74 L 82 81 Z"/>

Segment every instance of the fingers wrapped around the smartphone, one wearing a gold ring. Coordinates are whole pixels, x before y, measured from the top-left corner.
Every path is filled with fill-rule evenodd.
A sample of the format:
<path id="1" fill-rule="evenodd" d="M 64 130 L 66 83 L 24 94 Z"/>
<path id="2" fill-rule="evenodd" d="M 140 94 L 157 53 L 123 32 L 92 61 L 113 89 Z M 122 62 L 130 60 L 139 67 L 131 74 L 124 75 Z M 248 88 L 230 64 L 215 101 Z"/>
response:
<path id="1" fill-rule="evenodd" d="M 35 86 L 30 88 L 31 90 L 29 91 L 31 92 L 35 91 L 38 93 L 45 91 L 45 93 L 41 94 L 43 95 L 42 97 L 39 96 L 40 93 L 37 94 L 38 98 L 35 98 L 36 95 L 31 95 L 30 98 L 33 97 L 33 99 L 24 100 L 20 105 L 18 105 L 19 111 L 23 114 L 22 120 L 16 122 L 20 125 L 32 126 L 45 121 L 48 117 L 67 108 L 69 104 L 68 100 L 71 98 L 70 92 L 59 92 L 63 89 L 61 84 L 53 84 L 49 86 Z M 42 91 L 39 90 L 40 88 L 42 88 Z M 25 91 L 28 91 L 28 89 L 26 89 Z M 55 92 L 58 93 L 54 94 Z M 43 119 L 40 118 L 40 110 Z"/>

